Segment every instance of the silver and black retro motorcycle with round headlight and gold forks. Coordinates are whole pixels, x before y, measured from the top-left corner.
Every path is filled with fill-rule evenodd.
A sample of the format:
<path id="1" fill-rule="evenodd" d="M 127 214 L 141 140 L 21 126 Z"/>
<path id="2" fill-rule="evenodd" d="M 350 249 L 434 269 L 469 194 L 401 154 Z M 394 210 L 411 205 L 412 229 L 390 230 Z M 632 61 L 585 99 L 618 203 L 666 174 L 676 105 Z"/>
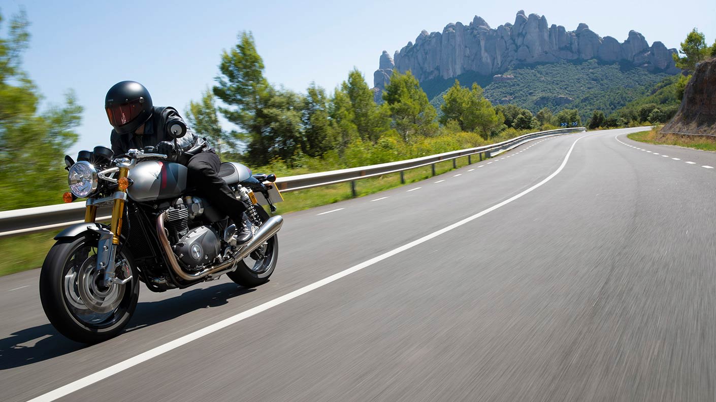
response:
<path id="1" fill-rule="evenodd" d="M 173 123 L 176 140 L 186 127 Z M 246 205 L 253 239 L 237 245 L 237 227 L 188 187 L 187 168 L 169 162 L 154 147 L 130 149 L 115 158 L 111 149 L 66 156 L 69 192 L 65 202 L 87 197 L 84 222 L 59 232 L 42 264 L 42 308 L 55 328 L 72 340 L 99 343 L 127 325 L 137 307 L 140 282 L 153 292 L 188 288 L 226 274 L 246 288 L 262 285 L 279 256 L 276 233 L 282 201 L 275 175 L 252 175 L 237 162 L 223 162 L 219 176 Z M 261 200 L 261 201 L 259 201 Z M 112 206 L 110 225 L 97 209 Z"/>

